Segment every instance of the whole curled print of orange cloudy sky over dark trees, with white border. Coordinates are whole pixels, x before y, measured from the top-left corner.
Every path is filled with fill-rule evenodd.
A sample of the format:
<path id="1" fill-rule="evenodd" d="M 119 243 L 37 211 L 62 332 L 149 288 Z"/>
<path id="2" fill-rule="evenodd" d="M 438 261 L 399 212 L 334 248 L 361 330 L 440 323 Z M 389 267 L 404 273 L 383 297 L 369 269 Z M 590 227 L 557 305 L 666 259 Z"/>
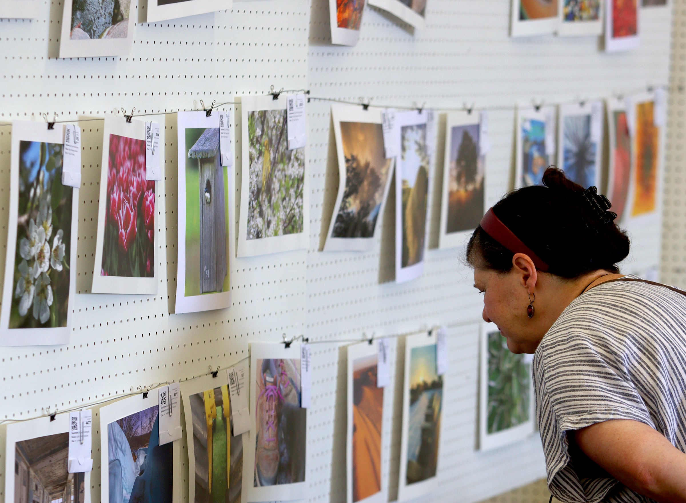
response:
<path id="1" fill-rule="evenodd" d="M 381 113 L 357 106 L 331 107 L 338 154 L 338 197 L 324 251 L 372 248 L 388 196 L 393 159 L 383 151 Z"/>

